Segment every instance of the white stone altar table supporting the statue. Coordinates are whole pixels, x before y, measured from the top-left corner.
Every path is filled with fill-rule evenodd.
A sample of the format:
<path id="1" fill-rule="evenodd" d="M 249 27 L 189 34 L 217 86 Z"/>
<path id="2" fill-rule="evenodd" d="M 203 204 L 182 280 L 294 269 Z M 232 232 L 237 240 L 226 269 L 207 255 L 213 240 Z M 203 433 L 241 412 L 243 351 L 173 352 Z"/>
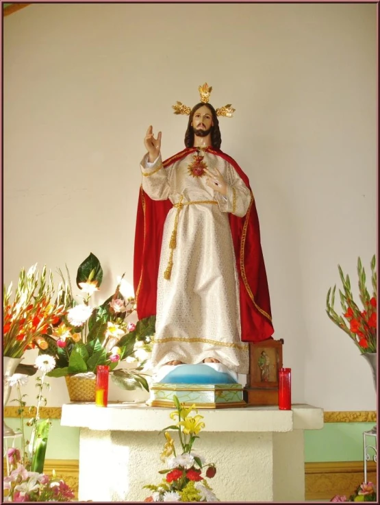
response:
<path id="1" fill-rule="evenodd" d="M 80 428 L 79 500 L 142 502 L 164 469 L 160 453 L 173 422 L 169 408 L 145 404 L 71 403 L 62 406 L 62 426 Z M 194 450 L 216 464 L 209 480 L 222 502 L 304 502 L 303 430 L 323 427 L 323 410 L 295 404 L 202 409 L 205 428 Z M 173 438 L 178 445 L 176 434 Z"/>

